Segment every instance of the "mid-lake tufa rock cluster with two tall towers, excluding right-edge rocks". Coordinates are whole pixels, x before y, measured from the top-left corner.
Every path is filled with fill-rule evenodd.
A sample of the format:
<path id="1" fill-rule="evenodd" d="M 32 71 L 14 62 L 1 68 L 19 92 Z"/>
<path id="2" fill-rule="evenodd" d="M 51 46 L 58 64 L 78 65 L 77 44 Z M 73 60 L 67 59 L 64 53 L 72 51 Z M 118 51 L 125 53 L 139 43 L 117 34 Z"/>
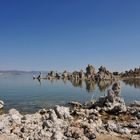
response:
<path id="1" fill-rule="evenodd" d="M 113 73 L 109 72 L 106 67 L 101 66 L 96 72 L 95 68 L 88 64 L 86 67 L 86 72 L 83 70 L 74 71 L 72 73 L 67 72 L 66 70 L 63 73 L 58 73 L 54 71 L 50 71 L 46 77 L 41 77 L 41 74 L 34 79 L 65 79 L 65 80 L 93 80 L 93 81 L 100 81 L 100 80 L 111 80 L 115 79 Z"/>

